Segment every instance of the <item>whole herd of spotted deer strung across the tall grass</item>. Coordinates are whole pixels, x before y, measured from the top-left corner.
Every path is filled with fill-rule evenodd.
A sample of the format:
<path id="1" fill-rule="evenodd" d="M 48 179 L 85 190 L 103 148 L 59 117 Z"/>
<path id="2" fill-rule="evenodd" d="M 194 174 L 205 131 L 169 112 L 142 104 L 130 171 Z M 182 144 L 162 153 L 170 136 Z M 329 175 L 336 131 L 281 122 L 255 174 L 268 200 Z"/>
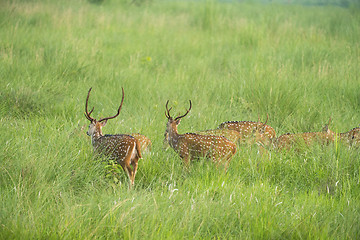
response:
<path id="1" fill-rule="evenodd" d="M 125 96 L 124 89 L 117 113 L 99 120 L 90 116 L 94 108 L 90 112 L 88 110 L 90 92 L 91 88 L 85 102 L 85 117 L 90 121 L 87 135 L 91 137 L 94 152 L 115 160 L 128 175 L 131 188 L 134 185 L 138 160 L 142 158 L 143 152 L 151 151 L 151 140 L 139 133 L 104 135 L 102 127 L 108 120 L 120 114 Z M 237 146 L 241 145 L 256 144 L 262 150 L 299 150 L 301 146 L 311 146 L 315 143 L 326 145 L 334 141 L 342 141 L 349 147 L 360 146 L 360 126 L 345 133 L 335 133 L 329 129 L 331 118 L 321 132 L 286 133 L 279 137 L 276 137 L 274 128 L 267 125 L 269 116 L 264 123 L 260 118 L 258 121 L 227 121 L 213 130 L 179 134 L 178 125 L 190 112 L 192 103 L 189 101 L 190 106 L 185 114 L 175 118 L 170 115 L 172 108 L 169 109 L 168 104 L 169 101 L 165 104 L 165 116 L 168 121 L 164 143 L 174 149 L 187 168 L 191 160 L 206 158 L 217 165 L 222 165 L 226 171 Z"/>

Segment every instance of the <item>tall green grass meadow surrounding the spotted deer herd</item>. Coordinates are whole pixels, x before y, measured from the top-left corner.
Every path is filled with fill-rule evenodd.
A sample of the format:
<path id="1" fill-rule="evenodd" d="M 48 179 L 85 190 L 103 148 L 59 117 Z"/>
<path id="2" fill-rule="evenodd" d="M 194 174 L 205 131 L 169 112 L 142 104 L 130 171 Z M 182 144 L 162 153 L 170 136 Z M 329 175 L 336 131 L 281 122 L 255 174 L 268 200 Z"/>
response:
<path id="1" fill-rule="evenodd" d="M 359 239 L 360 149 L 241 146 L 227 173 L 183 168 L 179 132 L 258 116 L 277 135 L 360 123 L 360 9 L 215 1 L 0 1 L 0 239 Z M 152 142 L 135 187 L 93 156 L 104 133 Z"/>

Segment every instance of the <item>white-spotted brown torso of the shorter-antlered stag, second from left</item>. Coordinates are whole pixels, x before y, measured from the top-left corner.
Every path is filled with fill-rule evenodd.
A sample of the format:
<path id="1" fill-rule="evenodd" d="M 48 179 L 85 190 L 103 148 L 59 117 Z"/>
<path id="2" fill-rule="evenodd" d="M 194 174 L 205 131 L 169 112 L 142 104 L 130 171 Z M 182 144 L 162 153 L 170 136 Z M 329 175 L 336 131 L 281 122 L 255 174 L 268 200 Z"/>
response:
<path id="1" fill-rule="evenodd" d="M 199 136 L 186 133 L 179 137 L 177 152 L 181 158 L 189 156 L 192 160 L 207 158 L 217 162 L 228 159 L 236 152 L 235 144 L 224 137 Z"/>

